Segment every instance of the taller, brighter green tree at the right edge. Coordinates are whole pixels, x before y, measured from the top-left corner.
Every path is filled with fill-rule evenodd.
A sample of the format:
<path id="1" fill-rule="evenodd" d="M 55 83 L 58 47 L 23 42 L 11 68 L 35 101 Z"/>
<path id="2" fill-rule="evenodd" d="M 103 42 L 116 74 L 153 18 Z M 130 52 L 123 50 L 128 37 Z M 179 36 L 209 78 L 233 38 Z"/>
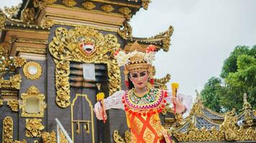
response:
<path id="1" fill-rule="evenodd" d="M 256 46 L 254 47 L 256 48 Z M 255 53 L 256 55 L 256 53 Z M 247 93 L 248 102 L 256 109 L 256 58 L 250 55 L 237 57 L 237 71 L 224 79 L 225 92 L 220 103 L 225 109 L 242 109 L 242 97 Z"/>

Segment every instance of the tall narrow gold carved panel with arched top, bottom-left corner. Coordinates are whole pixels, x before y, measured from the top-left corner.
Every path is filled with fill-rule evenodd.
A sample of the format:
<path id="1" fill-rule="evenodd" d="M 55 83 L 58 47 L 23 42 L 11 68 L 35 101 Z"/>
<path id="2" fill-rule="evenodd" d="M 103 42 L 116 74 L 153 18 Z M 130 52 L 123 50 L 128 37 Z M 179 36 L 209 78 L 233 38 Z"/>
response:
<path id="1" fill-rule="evenodd" d="M 14 122 L 12 117 L 5 117 L 3 120 L 3 143 L 12 143 Z"/>

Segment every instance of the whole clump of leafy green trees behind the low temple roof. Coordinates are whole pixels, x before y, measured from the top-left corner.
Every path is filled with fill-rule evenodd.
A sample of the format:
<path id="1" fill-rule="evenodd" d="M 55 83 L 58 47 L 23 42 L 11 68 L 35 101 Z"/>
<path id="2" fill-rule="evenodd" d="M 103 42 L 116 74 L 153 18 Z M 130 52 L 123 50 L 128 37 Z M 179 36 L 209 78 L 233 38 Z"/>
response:
<path id="1" fill-rule="evenodd" d="M 256 45 L 252 48 L 237 46 L 224 61 L 220 78 L 211 77 L 201 96 L 206 100 L 206 107 L 225 112 L 232 108 L 242 109 L 244 93 L 256 109 Z"/>

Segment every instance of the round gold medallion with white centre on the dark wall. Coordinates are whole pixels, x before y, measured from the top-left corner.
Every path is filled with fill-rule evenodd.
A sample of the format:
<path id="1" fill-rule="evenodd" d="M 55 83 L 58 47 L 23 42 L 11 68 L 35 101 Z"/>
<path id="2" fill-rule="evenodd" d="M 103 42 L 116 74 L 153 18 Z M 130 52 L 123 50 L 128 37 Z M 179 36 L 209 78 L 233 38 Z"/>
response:
<path id="1" fill-rule="evenodd" d="M 30 80 L 39 79 L 42 75 L 42 66 L 35 61 L 29 61 L 23 67 L 24 76 Z"/>

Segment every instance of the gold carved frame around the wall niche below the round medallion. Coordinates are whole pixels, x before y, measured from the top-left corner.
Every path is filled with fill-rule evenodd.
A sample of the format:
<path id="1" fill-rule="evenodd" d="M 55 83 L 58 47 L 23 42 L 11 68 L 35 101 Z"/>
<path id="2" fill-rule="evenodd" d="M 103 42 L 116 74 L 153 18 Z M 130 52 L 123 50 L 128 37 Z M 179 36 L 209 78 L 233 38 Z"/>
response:
<path id="1" fill-rule="evenodd" d="M 31 97 L 35 97 L 35 98 L 39 99 L 40 112 L 38 112 L 38 113 L 27 113 L 26 112 L 26 102 L 27 102 L 27 99 L 29 99 Z M 46 104 L 44 102 L 45 95 L 40 94 L 40 91 L 39 91 L 39 89 L 37 89 L 37 87 L 34 87 L 34 86 L 29 87 L 27 89 L 27 92 L 23 93 L 21 95 L 21 98 L 22 98 L 22 102 L 19 105 L 19 109 L 22 109 L 22 117 L 44 117 L 44 115 L 45 115 L 44 112 L 46 109 Z"/>

